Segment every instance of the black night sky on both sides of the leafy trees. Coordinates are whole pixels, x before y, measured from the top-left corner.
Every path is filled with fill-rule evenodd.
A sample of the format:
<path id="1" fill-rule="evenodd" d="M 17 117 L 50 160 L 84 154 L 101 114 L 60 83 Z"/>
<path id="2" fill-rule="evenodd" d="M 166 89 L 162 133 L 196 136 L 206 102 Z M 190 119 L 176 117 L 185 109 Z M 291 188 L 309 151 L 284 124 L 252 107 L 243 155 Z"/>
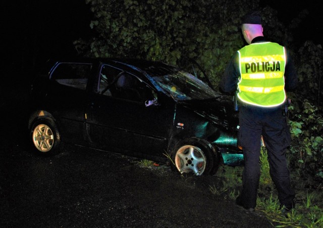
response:
<path id="1" fill-rule="evenodd" d="M 301 10 L 308 8 L 310 15 L 301 31 L 295 31 L 296 39 L 321 42 L 322 13 L 316 5 L 305 1 L 289 6 L 286 1 L 260 1 L 262 7 L 269 5 L 279 10 L 278 17 L 288 24 Z M 52 1 L 3 1 L 2 22 L 5 65 L 18 64 L 27 69 L 48 58 L 73 56 L 76 51 L 73 41 L 89 38 L 93 31 L 89 27 L 92 13 L 84 0 Z"/>

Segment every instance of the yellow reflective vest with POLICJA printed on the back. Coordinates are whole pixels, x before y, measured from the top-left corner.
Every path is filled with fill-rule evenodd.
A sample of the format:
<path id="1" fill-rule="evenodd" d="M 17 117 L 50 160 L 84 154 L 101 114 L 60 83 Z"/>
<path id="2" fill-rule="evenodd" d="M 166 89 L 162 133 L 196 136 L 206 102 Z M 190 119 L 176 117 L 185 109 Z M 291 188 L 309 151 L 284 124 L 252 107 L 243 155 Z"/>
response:
<path id="1" fill-rule="evenodd" d="M 260 107 L 283 104 L 285 94 L 285 48 L 274 42 L 251 43 L 239 53 L 238 98 Z"/>

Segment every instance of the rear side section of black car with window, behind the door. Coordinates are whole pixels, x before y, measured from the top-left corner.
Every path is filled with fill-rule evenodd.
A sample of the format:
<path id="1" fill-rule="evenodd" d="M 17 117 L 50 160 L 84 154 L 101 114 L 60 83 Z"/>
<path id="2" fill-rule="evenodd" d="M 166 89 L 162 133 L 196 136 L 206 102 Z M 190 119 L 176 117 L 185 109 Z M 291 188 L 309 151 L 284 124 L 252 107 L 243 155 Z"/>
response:
<path id="1" fill-rule="evenodd" d="M 86 86 L 92 64 L 62 62 L 50 73 L 50 91 L 46 103 L 59 121 L 62 138 L 67 142 L 85 145 Z"/>

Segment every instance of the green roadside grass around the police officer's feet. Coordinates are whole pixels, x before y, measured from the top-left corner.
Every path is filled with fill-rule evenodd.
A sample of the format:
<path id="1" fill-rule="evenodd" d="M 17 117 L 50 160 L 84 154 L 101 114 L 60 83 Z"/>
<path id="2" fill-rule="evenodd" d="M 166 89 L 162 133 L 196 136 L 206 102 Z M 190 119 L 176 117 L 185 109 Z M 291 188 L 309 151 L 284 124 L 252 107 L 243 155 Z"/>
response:
<path id="1" fill-rule="evenodd" d="M 299 183 L 302 180 L 294 178 L 298 175 L 297 172 L 291 172 L 292 185 L 296 191 L 296 206 L 285 213 L 284 208 L 280 208 L 277 191 L 270 177 L 265 148 L 261 150 L 260 164 L 256 210 L 262 211 L 276 227 L 323 227 L 323 192 L 319 189 L 305 189 L 304 184 Z M 238 189 L 242 186 L 242 171 L 243 167 L 222 166 L 216 174 L 222 179 L 222 184 L 209 186 L 210 192 L 235 200 L 239 195 Z"/>

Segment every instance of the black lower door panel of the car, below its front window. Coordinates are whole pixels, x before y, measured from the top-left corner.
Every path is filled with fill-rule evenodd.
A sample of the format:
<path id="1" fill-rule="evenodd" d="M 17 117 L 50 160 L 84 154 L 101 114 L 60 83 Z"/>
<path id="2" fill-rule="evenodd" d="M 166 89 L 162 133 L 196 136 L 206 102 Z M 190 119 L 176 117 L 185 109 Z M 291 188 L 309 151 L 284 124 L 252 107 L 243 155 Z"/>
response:
<path id="1" fill-rule="evenodd" d="M 167 149 L 174 108 L 145 107 L 140 102 L 94 95 L 86 114 L 91 143 L 100 149 L 153 154 Z"/>

